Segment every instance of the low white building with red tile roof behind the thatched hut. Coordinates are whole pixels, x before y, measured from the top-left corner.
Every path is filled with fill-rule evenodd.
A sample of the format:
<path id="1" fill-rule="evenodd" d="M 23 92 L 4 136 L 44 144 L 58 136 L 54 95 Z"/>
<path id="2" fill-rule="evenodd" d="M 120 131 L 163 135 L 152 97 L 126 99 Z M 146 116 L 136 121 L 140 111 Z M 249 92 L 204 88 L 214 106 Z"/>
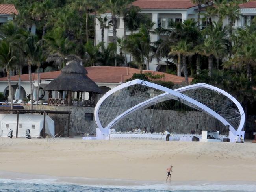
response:
<path id="1" fill-rule="evenodd" d="M 134 73 L 140 73 L 139 69 L 130 68 L 130 67 L 111 67 L 111 66 L 91 66 L 85 68 L 87 73 L 85 76 L 92 79 L 93 82 L 98 85 L 101 89 L 101 95 L 108 92 L 110 89 L 126 82 L 127 79 L 132 78 Z M 167 74 L 163 72 L 156 72 L 156 71 L 142 71 L 142 73 L 151 73 L 153 75 L 160 75 L 162 76 L 161 80 L 164 82 L 173 82 L 174 85 L 182 85 L 185 82 L 184 77 L 179 77 L 172 74 Z M 58 78 L 60 76 L 61 71 L 53 71 L 53 72 L 45 72 L 40 73 L 40 93 L 39 97 L 42 100 L 47 102 L 48 100 L 48 93 L 45 91 L 45 86 L 48 85 L 52 80 Z M 29 75 L 23 74 L 20 76 L 21 78 L 21 95 L 20 98 L 25 98 L 26 94 L 30 94 L 30 83 L 29 83 Z M 192 78 L 189 78 L 189 82 L 192 81 Z M 37 74 L 32 73 L 32 82 L 33 82 L 33 90 L 37 88 Z M 17 89 L 17 85 L 19 83 L 19 76 L 11 76 L 11 85 L 13 89 L 13 97 L 15 96 L 15 90 Z M 3 93 L 4 96 L 8 96 L 9 93 L 9 86 L 7 77 L 0 78 L 0 92 Z M 81 93 L 80 93 L 81 94 Z M 58 91 L 51 92 L 52 98 L 60 98 L 60 93 Z M 74 98 L 79 98 L 77 92 L 74 92 Z M 89 99 L 89 94 L 82 93 L 80 95 L 84 100 Z M 99 96 L 100 97 L 100 96 Z M 63 94 L 63 98 L 65 98 L 65 94 Z M 99 98 L 97 98 L 99 99 Z M 93 107 L 93 106 L 92 106 Z"/>

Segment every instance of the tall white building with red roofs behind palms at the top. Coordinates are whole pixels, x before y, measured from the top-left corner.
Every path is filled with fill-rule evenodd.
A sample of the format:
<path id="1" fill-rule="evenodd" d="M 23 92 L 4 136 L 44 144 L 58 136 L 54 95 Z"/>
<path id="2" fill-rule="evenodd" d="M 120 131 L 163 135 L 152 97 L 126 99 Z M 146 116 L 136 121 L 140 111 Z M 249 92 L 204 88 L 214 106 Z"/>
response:
<path id="1" fill-rule="evenodd" d="M 142 14 L 146 14 L 154 22 L 153 29 L 158 27 L 170 28 L 169 22 L 183 22 L 187 19 L 197 20 L 198 15 L 198 6 L 192 4 L 190 0 L 137 0 L 133 2 L 134 6 L 138 6 L 141 9 Z M 210 2 L 209 5 L 202 5 L 202 13 L 205 12 L 206 6 L 213 6 L 213 3 Z M 249 1 L 244 4 L 239 4 L 240 7 L 240 16 L 239 19 L 234 22 L 234 29 L 239 27 L 244 27 L 250 25 L 252 19 L 256 15 L 256 1 Z M 111 13 L 105 13 L 100 15 L 102 18 L 107 16 L 108 22 L 111 21 Z M 201 18 L 204 16 L 201 15 Z M 213 21 L 218 20 L 218 15 L 212 18 Z M 228 18 L 223 20 L 223 26 L 228 24 Z M 200 28 L 205 28 L 207 22 L 203 19 L 200 20 Z M 117 37 L 121 38 L 124 36 L 124 21 L 122 17 L 117 18 Z M 134 31 L 135 33 L 136 31 Z M 126 29 L 126 35 L 130 35 L 131 31 Z M 101 27 L 100 22 L 96 19 L 96 43 L 101 42 Z M 157 41 L 158 39 L 165 38 L 162 34 L 151 34 L 151 41 Z M 104 43 L 105 46 L 113 41 L 113 28 L 108 26 L 104 28 Z M 129 56 L 127 57 L 130 58 Z M 165 62 L 158 63 L 156 60 L 150 63 L 150 70 L 159 71 L 161 68 L 165 68 Z"/>

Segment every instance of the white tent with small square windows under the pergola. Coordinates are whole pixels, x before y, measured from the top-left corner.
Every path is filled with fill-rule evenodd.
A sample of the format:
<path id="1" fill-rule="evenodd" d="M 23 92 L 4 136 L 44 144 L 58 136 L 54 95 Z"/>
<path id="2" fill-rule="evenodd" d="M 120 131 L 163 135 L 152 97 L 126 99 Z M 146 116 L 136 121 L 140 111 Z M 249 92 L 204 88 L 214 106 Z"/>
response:
<path id="1" fill-rule="evenodd" d="M 18 137 L 26 137 L 26 130 L 30 129 L 31 137 L 40 136 L 43 129 L 43 115 L 19 114 Z M 13 130 L 13 137 L 16 136 L 17 114 L 0 114 L 0 137 L 7 137 L 10 129 Z M 45 116 L 45 133 L 54 136 L 54 121 Z"/>

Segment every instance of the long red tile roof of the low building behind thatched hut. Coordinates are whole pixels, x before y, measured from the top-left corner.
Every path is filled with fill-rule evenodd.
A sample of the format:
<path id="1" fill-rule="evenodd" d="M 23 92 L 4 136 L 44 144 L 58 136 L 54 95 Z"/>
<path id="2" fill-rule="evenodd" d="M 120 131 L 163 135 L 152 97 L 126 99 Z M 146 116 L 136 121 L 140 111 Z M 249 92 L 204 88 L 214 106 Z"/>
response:
<path id="1" fill-rule="evenodd" d="M 139 69 L 130 68 L 130 67 L 111 67 L 111 66 L 91 66 L 85 68 L 88 72 L 88 77 L 91 78 L 96 83 L 120 83 L 125 82 L 127 79 L 132 78 L 132 75 L 134 73 L 140 73 Z M 53 72 L 46 72 L 41 73 L 40 77 L 42 80 L 47 79 L 55 79 L 59 76 L 61 72 L 60 71 L 53 71 Z M 161 79 L 161 81 L 172 81 L 174 84 L 182 84 L 182 82 L 185 81 L 184 77 L 179 77 L 172 74 L 167 74 L 163 72 L 157 72 L 157 71 L 147 71 L 143 70 L 142 73 L 152 73 L 153 75 L 164 74 L 165 76 Z M 189 82 L 192 81 L 193 78 L 189 78 Z M 11 81 L 18 81 L 19 76 L 12 76 Z M 28 74 L 21 75 L 22 81 L 29 81 Z M 37 80 L 37 74 L 32 73 L 32 81 Z M 7 77 L 0 78 L 0 81 L 7 81 Z"/>

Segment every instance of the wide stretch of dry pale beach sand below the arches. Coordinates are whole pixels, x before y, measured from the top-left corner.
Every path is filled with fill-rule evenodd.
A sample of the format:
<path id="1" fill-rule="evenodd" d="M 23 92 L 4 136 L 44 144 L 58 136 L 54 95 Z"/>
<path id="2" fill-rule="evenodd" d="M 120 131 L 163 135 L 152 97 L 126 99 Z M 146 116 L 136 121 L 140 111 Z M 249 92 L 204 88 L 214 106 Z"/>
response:
<path id="1" fill-rule="evenodd" d="M 256 144 L 0 138 L 0 171 L 164 181 L 256 181 Z"/>

